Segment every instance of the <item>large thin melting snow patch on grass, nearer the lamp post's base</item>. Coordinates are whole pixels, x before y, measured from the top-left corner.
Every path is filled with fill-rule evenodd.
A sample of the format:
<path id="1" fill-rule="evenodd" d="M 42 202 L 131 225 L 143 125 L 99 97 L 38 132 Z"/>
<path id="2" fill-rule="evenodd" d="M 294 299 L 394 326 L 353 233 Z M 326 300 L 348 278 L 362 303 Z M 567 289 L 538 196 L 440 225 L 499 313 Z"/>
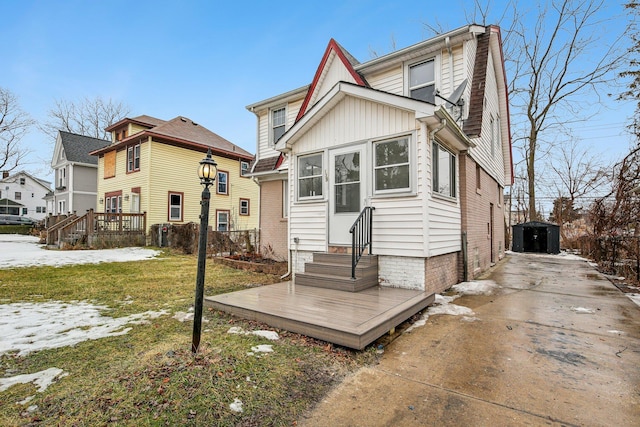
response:
<path id="1" fill-rule="evenodd" d="M 75 345 L 82 341 L 125 335 L 130 324 L 147 323 L 165 310 L 147 311 L 125 317 L 103 316 L 108 307 L 87 302 L 0 304 L 0 355 Z"/>

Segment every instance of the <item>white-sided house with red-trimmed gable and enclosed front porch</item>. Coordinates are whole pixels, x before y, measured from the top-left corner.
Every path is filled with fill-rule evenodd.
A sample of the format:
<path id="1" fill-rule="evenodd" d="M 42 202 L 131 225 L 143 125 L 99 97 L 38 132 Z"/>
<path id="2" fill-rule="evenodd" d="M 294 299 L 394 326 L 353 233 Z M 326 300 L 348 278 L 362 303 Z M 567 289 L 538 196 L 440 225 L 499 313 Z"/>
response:
<path id="1" fill-rule="evenodd" d="M 303 277 L 314 253 L 349 252 L 375 209 L 381 285 L 435 293 L 487 269 L 504 255 L 513 177 L 505 79 L 496 26 L 365 63 L 330 40 L 309 86 L 247 107 L 263 246 L 282 240 Z"/>

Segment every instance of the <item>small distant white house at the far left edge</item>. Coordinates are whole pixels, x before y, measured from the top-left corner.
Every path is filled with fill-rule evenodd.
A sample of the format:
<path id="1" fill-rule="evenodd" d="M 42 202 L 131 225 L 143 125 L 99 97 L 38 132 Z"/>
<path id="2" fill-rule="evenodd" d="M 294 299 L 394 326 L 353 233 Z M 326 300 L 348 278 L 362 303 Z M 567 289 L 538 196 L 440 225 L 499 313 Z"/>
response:
<path id="1" fill-rule="evenodd" d="M 47 215 L 44 197 L 51 183 L 20 171 L 13 175 L 2 172 L 0 180 L 0 213 L 41 220 Z"/>

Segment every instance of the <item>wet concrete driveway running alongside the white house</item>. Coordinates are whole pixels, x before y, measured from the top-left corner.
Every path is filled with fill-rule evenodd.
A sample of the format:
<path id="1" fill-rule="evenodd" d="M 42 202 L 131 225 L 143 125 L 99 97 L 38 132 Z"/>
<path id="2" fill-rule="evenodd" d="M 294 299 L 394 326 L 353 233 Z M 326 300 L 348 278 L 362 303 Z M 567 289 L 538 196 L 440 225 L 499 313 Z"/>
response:
<path id="1" fill-rule="evenodd" d="M 303 426 L 640 426 L 640 307 L 585 261 L 513 254 Z"/>

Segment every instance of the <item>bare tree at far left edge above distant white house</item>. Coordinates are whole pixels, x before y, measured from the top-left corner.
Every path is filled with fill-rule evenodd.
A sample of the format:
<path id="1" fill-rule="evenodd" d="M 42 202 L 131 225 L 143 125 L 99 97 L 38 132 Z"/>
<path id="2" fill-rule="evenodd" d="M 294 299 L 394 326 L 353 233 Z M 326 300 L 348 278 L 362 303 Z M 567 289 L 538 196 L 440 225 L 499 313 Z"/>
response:
<path id="1" fill-rule="evenodd" d="M 18 98 L 9 90 L 0 87 L 0 170 L 17 168 L 28 150 L 20 145 L 22 137 L 29 131 L 33 120 L 18 104 Z"/>

